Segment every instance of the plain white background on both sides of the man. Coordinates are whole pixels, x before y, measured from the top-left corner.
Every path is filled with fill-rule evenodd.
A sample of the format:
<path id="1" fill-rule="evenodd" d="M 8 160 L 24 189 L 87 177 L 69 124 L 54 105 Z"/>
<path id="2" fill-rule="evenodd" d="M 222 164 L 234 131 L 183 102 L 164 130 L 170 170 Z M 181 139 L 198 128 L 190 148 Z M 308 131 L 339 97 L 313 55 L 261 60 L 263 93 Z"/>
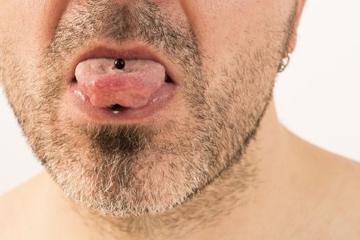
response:
<path id="1" fill-rule="evenodd" d="M 360 160 L 360 2 L 308 1 L 298 46 L 278 77 L 280 121 L 302 138 Z M 0 194 L 42 168 L 0 94 Z"/>

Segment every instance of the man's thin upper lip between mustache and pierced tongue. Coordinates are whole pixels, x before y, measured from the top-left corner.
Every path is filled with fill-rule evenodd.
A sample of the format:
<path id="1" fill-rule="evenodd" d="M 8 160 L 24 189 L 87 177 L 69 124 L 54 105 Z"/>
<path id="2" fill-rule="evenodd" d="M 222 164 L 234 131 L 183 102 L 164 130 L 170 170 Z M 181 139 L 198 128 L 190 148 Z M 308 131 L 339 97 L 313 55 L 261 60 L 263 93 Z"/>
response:
<path id="1" fill-rule="evenodd" d="M 97 42 L 96 45 L 82 48 L 77 56 L 71 60 L 71 81 L 75 79 L 75 68 L 80 62 L 91 58 L 117 58 L 153 60 L 163 64 L 165 72 L 173 83 L 177 83 L 176 73 L 173 65 L 158 51 L 139 42 L 123 43 L 121 45 L 111 44 L 108 41 Z"/>

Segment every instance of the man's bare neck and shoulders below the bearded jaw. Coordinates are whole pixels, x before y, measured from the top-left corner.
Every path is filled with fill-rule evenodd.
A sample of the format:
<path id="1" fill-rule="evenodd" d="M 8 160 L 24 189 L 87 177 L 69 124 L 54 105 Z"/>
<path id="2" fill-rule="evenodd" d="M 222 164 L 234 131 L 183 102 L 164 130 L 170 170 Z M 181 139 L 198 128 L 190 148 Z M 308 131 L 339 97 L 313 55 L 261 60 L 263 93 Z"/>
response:
<path id="1" fill-rule="evenodd" d="M 262 159 L 256 165 L 256 183 L 237 194 L 236 205 L 227 198 L 215 200 L 205 191 L 181 206 L 184 212 L 176 209 L 173 214 L 179 218 L 192 204 L 201 206 L 205 213 L 213 211 L 211 204 L 202 206 L 204 197 L 210 203 L 219 201 L 224 212 L 231 211 L 218 215 L 215 226 L 206 226 L 210 219 L 202 216 L 204 227 L 200 225 L 182 239 L 359 239 L 358 163 L 291 134 L 278 123 L 274 106 L 269 108 L 259 138 L 250 148 L 254 152 L 246 158 Z M 225 186 L 229 178 L 226 174 L 224 182 L 214 182 L 214 187 Z M 219 189 L 220 195 L 222 192 Z M 3 196 L 0 206 L 1 239 L 132 239 L 121 231 L 108 230 L 104 219 L 92 216 L 99 225 L 104 224 L 95 225 L 87 219 L 90 214 L 86 210 L 80 215 L 78 207 L 67 200 L 47 173 Z M 178 226 L 173 234 L 188 227 Z"/>

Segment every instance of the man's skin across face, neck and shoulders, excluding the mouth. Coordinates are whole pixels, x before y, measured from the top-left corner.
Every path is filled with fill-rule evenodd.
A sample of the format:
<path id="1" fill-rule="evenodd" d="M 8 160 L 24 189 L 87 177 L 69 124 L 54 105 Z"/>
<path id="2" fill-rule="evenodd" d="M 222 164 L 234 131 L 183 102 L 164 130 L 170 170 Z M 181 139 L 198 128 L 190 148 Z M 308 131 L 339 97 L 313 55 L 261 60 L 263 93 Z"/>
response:
<path id="1" fill-rule="evenodd" d="M 46 171 L 1 199 L 0 239 L 359 237 L 358 165 L 276 119 L 272 89 L 303 0 L 1 6 L 1 83 Z M 171 62 L 180 90 L 166 114 L 73 117 L 67 77 L 99 43 Z"/>

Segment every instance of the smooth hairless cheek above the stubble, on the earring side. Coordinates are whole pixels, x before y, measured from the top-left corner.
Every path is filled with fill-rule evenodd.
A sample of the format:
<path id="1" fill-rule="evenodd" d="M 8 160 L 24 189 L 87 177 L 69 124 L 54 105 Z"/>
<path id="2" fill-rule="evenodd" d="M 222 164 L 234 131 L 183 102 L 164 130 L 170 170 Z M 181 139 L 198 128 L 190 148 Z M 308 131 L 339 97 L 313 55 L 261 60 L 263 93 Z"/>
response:
<path id="1" fill-rule="evenodd" d="M 182 1 L 204 56 L 226 64 L 241 49 L 263 49 L 269 32 L 287 19 L 291 1 Z M 212 68 L 208 63 L 207 67 Z"/>

